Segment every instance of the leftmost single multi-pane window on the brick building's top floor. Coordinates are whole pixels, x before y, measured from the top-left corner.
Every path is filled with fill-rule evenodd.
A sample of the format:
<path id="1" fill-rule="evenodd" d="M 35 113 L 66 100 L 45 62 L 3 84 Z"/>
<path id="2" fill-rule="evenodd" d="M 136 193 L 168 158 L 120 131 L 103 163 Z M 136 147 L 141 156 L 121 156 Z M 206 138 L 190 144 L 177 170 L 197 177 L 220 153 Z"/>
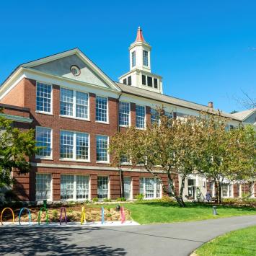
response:
<path id="1" fill-rule="evenodd" d="M 43 84 L 43 83 L 37 82 L 36 91 L 37 91 L 36 110 L 50 113 L 52 86 L 50 84 Z"/>

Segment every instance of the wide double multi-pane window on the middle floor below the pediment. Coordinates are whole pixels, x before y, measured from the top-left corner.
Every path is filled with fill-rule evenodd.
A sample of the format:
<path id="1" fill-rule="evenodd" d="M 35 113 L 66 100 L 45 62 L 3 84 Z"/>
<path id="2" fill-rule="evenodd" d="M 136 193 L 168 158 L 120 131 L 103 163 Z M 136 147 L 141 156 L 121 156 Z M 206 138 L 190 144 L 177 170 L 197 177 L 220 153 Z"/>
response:
<path id="1" fill-rule="evenodd" d="M 89 134 L 61 131 L 61 158 L 89 160 Z"/>

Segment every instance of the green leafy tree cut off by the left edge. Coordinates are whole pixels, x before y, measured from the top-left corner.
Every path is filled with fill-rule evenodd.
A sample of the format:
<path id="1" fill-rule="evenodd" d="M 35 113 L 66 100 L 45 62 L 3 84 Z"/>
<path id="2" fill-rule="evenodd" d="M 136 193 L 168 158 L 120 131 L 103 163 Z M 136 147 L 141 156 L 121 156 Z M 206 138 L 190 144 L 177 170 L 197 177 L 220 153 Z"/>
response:
<path id="1" fill-rule="evenodd" d="M 0 187 L 12 184 L 12 170 L 19 174 L 30 171 L 30 156 L 36 153 L 34 130 L 13 128 L 12 120 L 0 116 Z"/>

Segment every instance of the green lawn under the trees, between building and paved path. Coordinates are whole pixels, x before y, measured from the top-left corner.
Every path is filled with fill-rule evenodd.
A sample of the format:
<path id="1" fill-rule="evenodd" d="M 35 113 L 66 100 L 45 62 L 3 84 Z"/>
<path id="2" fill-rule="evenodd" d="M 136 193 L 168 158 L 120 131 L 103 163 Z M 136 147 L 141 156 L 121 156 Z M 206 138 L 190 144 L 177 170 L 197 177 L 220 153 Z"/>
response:
<path id="1" fill-rule="evenodd" d="M 186 203 L 186 205 L 185 208 L 180 208 L 177 203 L 143 201 L 141 203 L 125 203 L 123 206 L 131 211 L 132 219 L 139 224 L 200 221 L 231 216 L 256 215 L 256 208 L 217 206 L 218 215 L 213 216 L 211 205 L 206 203 Z M 112 208 L 115 205 L 105 205 L 105 207 Z"/>

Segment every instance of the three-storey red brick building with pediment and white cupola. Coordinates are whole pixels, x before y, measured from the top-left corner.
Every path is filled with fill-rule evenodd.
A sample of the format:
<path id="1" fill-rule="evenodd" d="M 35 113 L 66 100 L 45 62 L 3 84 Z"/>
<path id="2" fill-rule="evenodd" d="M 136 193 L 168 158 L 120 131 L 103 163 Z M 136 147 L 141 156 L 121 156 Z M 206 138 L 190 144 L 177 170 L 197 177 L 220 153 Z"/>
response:
<path id="1" fill-rule="evenodd" d="M 107 152 L 110 136 L 125 127 L 146 128 L 156 121 L 157 106 L 167 115 L 182 118 L 208 106 L 163 94 L 162 77 L 151 73 L 151 46 L 138 28 L 131 44 L 130 71 L 112 81 L 79 49 L 24 63 L 0 87 L 0 107 L 14 125 L 35 128 L 39 146 L 45 146 L 30 159 L 27 175 L 14 172 L 14 191 L 21 200 L 86 200 L 125 197 L 144 193 L 160 198 L 162 187 L 142 167 L 120 170 L 111 167 Z M 241 123 L 227 113 L 229 125 Z M 156 170 L 161 172 L 161 170 Z M 167 177 L 162 175 L 167 184 Z M 175 182 L 179 186 L 179 177 Z M 187 179 L 185 195 L 195 197 L 195 187 L 206 191 L 203 177 Z"/>

